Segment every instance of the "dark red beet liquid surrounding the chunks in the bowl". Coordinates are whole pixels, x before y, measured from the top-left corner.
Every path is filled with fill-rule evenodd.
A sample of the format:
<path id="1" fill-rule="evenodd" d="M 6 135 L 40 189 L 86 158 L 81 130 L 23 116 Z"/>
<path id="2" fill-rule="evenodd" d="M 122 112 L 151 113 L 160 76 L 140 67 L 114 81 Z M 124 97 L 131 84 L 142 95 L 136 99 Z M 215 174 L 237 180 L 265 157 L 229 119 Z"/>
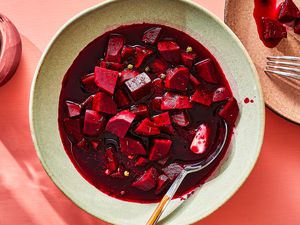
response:
<path id="1" fill-rule="evenodd" d="M 101 140 L 101 145 L 99 146 L 98 151 L 95 151 L 91 146 L 89 146 L 89 150 L 83 151 L 82 149 L 77 147 L 78 141 L 75 140 L 74 137 L 72 137 L 72 135 L 68 134 L 68 132 L 66 131 L 63 120 L 64 118 L 68 117 L 65 105 L 66 100 L 81 103 L 90 96 L 90 93 L 86 93 L 82 89 L 81 78 L 86 74 L 93 72 L 94 67 L 96 65 L 99 65 L 99 59 L 104 57 L 109 35 L 111 33 L 123 35 L 126 38 L 126 45 L 145 45 L 141 42 L 141 37 L 144 31 L 157 26 L 162 28 L 160 40 L 170 38 L 174 39 L 182 49 L 186 49 L 188 46 L 192 46 L 193 51 L 197 53 L 197 58 L 195 60 L 196 62 L 205 58 L 210 58 L 211 60 L 213 60 L 219 83 L 209 84 L 203 81 L 203 87 L 206 87 L 208 89 L 216 89 L 220 86 L 223 86 L 230 90 L 230 87 L 225 79 L 223 71 L 220 68 L 218 62 L 211 55 L 211 53 L 198 41 L 188 36 L 187 34 L 170 27 L 154 24 L 136 24 L 122 26 L 111 32 L 107 32 L 95 39 L 94 41 L 92 41 L 80 52 L 80 54 L 77 56 L 77 58 L 75 59 L 75 61 L 73 62 L 73 64 L 71 65 L 71 67 L 65 75 L 65 78 L 62 83 L 59 104 L 58 122 L 61 139 L 68 156 L 70 157 L 74 166 L 80 172 L 80 174 L 96 188 L 110 196 L 122 200 L 142 203 L 157 202 L 165 193 L 164 191 L 157 195 L 155 194 L 155 189 L 145 192 L 131 186 L 132 182 L 138 176 L 142 175 L 145 172 L 145 170 L 147 170 L 150 167 L 154 167 L 159 173 L 162 173 L 161 169 L 166 165 L 169 165 L 173 162 L 178 162 L 182 165 L 196 162 L 201 159 L 204 159 L 215 150 L 216 146 L 220 143 L 220 140 L 223 138 L 223 132 L 220 125 L 220 118 L 216 115 L 216 109 L 220 104 L 224 104 L 224 102 L 213 103 L 210 107 L 202 106 L 200 104 L 193 104 L 193 108 L 187 110 L 190 117 L 189 126 L 183 128 L 174 125 L 174 136 L 171 136 L 166 133 L 161 133 L 158 136 L 156 136 L 158 138 L 161 137 L 173 141 L 170 154 L 165 166 L 161 166 L 157 162 L 150 162 L 146 167 L 136 167 L 134 165 L 136 157 L 133 159 L 129 159 L 127 156 L 123 155 L 120 151 L 117 150 L 116 157 L 118 159 L 119 164 L 122 165 L 123 171 L 127 170 L 130 172 L 130 176 L 123 178 L 112 178 L 111 176 L 105 175 L 104 162 L 106 161 L 106 159 L 104 153 L 107 146 L 115 146 L 115 148 L 118 149 L 118 138 L 115 135 L 104 132 L 99 137 L 86 136 L 85 138 L 88 141 Z M 147 47 L 150 48 L 150 46 Z M 156 47 L 151 48 L 154 51 L 156 51 Z M 145 66 L 151 60 L 153 60 L 153 57 L 150 57 L 147 60 L 147 62 L 144 63 L 144 65 L 141 68 L 139 68 L 139 72 L 143 72 Z M 169 66 L 171 67 L 171 65 Z M 194 73 L 193 70 L 191 72 Z M 154 77 L 154 75 L 150 72 L 149 76 Z M 188 88 L 188 95 L 190 95 L 193 91 L 194 89 L 190 85 Z M 145 104 L 149 105 L 148 100 L 142 100 L 140 102 L 144 102 Z M 176 110 L 174 112 L 176 112 Z M 159 113 L 162 112 L 150 110 L 151 115 Z M 171 115 L 172 113 L 173 112 L 170 112 Z M 81 115 L 80 118 L 81 120 L 83 120 L 83 115 Z M 135 127 L 136 123 L 137 122 L 134 122 L 131 127 Z M 202 123 L 208 124 L 211 128 L 211 145 L 204 154 L 197 155 L 191 152 L 189 147 L 195 135 L 195 129 Z M 230 127 L 230 138 L 231 134 L 232 127 Z M 149 138 L 138 136 L 133 132 L 132 129 L 129 130 L 127 136 L 139 140 L 145 146 L 147 152 L 149 153 L 152 141 L 151 137 Z M 228 143 L 230 142 L 230 138 L 228 140 Z M 191 191 L 195 187 L 202 184 L 205 181 L 205 179 L 211 174 L 214 168 L 219 164 L 221 158 L 222 156 L 220 156 L 219 160 L 217 160 L 213 165 L 206 168 L 205 170 L 188 176 L 179 188 L 176 196 L 181 196 L 184 193 L 187 193 L 188 191 Z"/>

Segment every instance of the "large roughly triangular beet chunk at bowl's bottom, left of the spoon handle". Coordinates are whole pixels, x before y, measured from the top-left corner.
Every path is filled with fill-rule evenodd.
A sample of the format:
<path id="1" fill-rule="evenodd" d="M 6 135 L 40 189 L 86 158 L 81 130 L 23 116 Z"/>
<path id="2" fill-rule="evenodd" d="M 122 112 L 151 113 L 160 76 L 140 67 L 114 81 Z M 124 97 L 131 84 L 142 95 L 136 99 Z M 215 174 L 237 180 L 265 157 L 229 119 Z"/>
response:
<path id="1" fill-rule="evenodd" d="M 132 183 L 132 186 L 142 191 L 150 191 L 156 186 L 157 176 L 156 169 L 151 167 L 142 176 L 138 177 L 136 181 Z"/>

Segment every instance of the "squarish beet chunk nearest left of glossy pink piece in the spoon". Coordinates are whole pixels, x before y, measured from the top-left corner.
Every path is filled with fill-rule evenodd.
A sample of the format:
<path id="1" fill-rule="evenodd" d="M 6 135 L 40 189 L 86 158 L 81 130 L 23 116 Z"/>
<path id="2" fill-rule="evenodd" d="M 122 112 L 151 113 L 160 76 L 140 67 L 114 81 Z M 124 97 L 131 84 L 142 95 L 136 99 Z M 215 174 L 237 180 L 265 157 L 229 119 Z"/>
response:
<path id="1" fill-rule="evenodd" d="M 167 157 L 170 152 L 171 145 L 171 140 L 154 139 L 153 146 L 150 150 L 149 160 L 155 161 Z"/>

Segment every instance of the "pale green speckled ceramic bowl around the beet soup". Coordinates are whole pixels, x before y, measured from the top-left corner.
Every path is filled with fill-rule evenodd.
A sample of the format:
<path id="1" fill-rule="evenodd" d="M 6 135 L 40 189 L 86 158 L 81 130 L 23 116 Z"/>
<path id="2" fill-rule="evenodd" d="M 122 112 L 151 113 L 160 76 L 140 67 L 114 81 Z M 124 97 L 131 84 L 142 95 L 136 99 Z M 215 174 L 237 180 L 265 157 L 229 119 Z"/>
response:
<path id="1" fill-rule="evenodd" d="M 184 0 L 119 0 L 75 16 L 54 36 L 37 67 L 30 98 L 32 137 L 46 172 L 80 208 L 113 224 L 146 223 L 156 204 L 121 201 L 89 184 L 68 158 L 57 122 L 61 83 L 78 53 L 108 30 L 142 22 L 177 28 L 208 48 L 223 68 L 241 109 L 229 154 L 214 179 L 187 200 L 172 200 L 160 222 L 190 224 L 212 213 L 238 190 L 257 160 L 264 133 L 264 104 L 255 67 L 238 38 L 204 8 Z M 246 97 L 254 103 L 245 104 Z"/>

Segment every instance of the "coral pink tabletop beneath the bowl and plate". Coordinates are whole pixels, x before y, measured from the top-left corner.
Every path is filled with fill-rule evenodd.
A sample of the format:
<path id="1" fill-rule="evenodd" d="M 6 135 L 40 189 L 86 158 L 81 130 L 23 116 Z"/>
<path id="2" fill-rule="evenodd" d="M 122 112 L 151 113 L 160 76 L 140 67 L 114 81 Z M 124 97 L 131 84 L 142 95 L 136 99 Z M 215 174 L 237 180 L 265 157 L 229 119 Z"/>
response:
<path id="1" fill-rule="evenodd" d="M 20 67 L 0 88 L 0 225 L 107 224 L 75 206 L 52 183 L 35 153 L 28 122 L 29 89 L 50 38 L 70 17 L 99 0 L 3 0 L 1 13 L 23 41 Z M 223 18 L 224 0 L 198 0 Z M 266 110 L 266 133 L 248 180 L 198 225 L 299 225 L 300 126 Z"/>

